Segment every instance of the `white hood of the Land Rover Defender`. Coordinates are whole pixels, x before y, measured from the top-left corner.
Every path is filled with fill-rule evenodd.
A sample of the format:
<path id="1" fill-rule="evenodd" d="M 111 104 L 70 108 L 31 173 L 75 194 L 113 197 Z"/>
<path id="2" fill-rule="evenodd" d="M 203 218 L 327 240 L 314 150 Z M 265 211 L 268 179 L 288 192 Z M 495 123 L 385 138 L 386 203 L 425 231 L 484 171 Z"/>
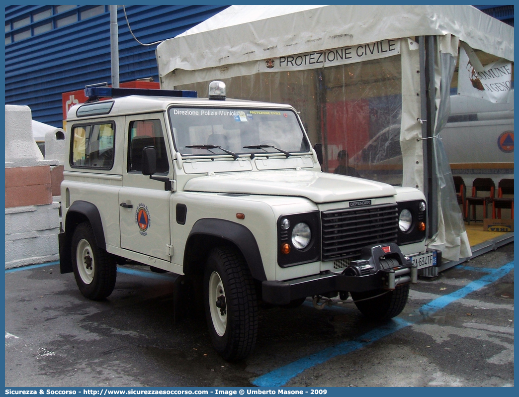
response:
<path id="1" fill-rule="evenodd" d="M 189 180 L 191 192 L 306 197 L 315 203 L 361 200 L 396 194 L 386 183 L 315 171 L 260 171 L 204 176 Z"/>

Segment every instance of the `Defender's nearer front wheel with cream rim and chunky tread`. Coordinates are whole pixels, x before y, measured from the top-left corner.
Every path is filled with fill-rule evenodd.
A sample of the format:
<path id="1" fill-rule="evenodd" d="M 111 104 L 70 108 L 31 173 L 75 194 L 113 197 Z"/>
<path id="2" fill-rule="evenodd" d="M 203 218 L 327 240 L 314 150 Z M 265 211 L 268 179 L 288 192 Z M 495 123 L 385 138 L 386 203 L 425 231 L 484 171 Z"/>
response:
<path id="1" fill-rule="evenodd" d="M 244 359 L 256 344 L 258 300 L 243 256 L 233 248 L 213 248 L 204 270 L 203 289 L 214 349 L 227 361 Z"/>

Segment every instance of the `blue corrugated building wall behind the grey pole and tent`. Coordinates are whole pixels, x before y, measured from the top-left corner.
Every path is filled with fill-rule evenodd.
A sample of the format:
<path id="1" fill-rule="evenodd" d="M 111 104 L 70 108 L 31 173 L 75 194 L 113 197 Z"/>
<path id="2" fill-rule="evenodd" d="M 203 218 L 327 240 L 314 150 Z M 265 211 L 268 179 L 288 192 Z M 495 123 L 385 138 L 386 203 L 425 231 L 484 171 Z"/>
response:
<path id="1" fill-rule="evenodd" d="M 61 14 L 34 22 L 34 15 L 50 6 L 5 7 L 5 100 L 7 104 L 28 105 L 34 120 L 62 126 L 62 92 L 82 89 L 86 84 L 111 83 L 110 12 L 108 6 L 93 17 L 58 28 L 57 19 L 81 18 L 92 6 L 77 6 Z M 130 27 L 142 43 L 174 37 L 206 20 L 226 6 L 127 6 Z M 52 23 L 52 29 L 17 39 L 29 27 Z M 22 22 L 17 22 L 22 21 Z M 18 25 L 22 25 L 18 27 Z M 153 46 L 142 46 L 130 34 L 124 12 L 118 9 L 120 82 L 154 77 L 158 82 Z M 20 37 L 20 36 L 18 36 Z"/>

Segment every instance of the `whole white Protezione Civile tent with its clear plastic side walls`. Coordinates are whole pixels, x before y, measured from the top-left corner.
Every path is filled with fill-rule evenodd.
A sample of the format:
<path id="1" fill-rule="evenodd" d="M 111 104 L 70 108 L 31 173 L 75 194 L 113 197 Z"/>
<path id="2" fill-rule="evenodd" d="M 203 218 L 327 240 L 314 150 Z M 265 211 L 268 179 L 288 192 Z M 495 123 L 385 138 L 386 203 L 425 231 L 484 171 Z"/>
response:
<path id="1" fill-rule="evenodd" d="M 230 6 L 156 55 L 162 88 L 223 80 L 235 98 L 294 105 L 323 143 L 326 170 L 339 150 L 362 156 L 385 137 L 378 150 L 388 151 L 397 136 L 400 163 L 366 169 L 392 169 L 396 183 L 424 191 L 429 245 L 458 260 L 471 252 L 438 134 L 460 46 L 477 72 L 472 50 L 487 64 L 513 62 L 514 29 L 469 5 Z"/>

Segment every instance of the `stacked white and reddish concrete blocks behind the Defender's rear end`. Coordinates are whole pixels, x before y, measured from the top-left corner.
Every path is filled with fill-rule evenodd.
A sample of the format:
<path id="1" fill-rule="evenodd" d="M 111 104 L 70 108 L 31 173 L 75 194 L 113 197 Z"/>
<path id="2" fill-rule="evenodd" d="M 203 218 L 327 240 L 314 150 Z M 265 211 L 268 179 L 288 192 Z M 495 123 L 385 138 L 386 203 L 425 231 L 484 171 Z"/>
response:
<path id="1" fill-rule="evenodd" d="M 59 259 L 63 165 L 44 160 L 26 106 L 5 105 L 5 268 Z"/>

